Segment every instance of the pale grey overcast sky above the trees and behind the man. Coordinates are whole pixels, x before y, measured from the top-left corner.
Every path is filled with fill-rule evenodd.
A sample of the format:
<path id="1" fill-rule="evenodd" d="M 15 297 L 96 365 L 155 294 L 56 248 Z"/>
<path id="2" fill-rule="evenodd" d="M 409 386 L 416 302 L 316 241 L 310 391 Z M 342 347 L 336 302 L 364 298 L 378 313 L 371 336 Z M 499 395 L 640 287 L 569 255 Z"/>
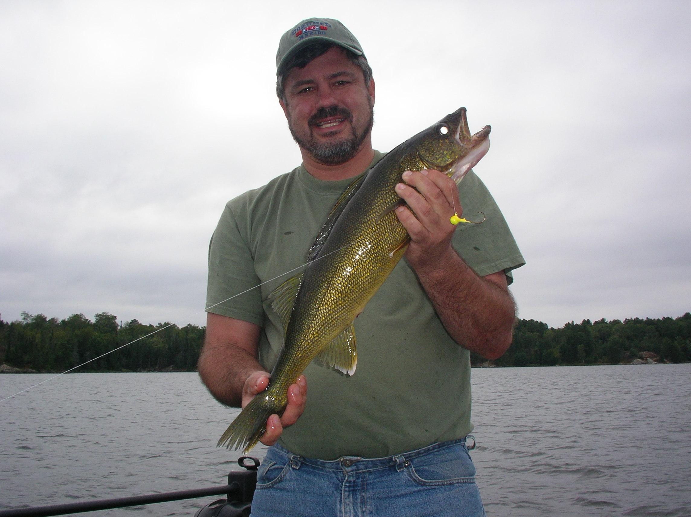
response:
<path id="1" fill-rule="evenodd" d="M 492 125 L 520 317 L 691 310 L 691 2 L 326 5 L 0 2 L 0 317 L 203 324 L 225 203 L 300 162 L 275 55 L 313 15 L 363 45 L 376 149 Z"/>

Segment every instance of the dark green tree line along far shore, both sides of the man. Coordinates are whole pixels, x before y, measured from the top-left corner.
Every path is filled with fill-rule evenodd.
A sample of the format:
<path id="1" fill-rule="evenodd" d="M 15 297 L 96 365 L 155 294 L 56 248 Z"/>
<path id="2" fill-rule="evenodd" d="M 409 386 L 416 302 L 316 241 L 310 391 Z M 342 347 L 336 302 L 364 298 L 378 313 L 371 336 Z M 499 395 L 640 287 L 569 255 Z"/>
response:
<path id="1" fill-rule="evenodd" d="M 149 336 L 152 332 L 155 333 Z M 84 314 L 58 320 L 23 312 L 21 320 L 0 319 L 0 358 L 10 366 L 41 372 L 62 372 L 86 361 L 91 362 L 78 371 L 193 371 L 204 332 L 204 327 L 191 324 L 144 325 L 136 319 L 118 324 L 117 317 L 108 312 L 95 314 L 93 321 Z M 643 351 L 672 363 L 691 361 L 691 314 L 687 312 L 676 319 L 600 319 L 594 323 L 585 319 L 581 323 L 571 321 L 561 328 L 520 319 L 513 331 L 513 344 L 493 363 L 618 364 L 635 359 Z M 471 354 L 473 366 L 484 362 L 479 355 Z"/>

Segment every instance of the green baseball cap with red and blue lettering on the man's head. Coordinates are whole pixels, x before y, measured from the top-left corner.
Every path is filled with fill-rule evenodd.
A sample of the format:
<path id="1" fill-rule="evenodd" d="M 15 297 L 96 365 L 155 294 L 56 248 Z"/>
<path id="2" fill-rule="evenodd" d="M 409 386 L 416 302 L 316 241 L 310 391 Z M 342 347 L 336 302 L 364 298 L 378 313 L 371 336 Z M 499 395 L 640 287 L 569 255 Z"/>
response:
<path id="1" fill-rule="evenodd" d="M 298 50 L 316 41 L 328 41 L 347 48 L 356 55 L 365 55 L 360 42 L 340 21 L 330 18 L 307 18 L 281 36 L 276 53 L 276 75 Z"/>

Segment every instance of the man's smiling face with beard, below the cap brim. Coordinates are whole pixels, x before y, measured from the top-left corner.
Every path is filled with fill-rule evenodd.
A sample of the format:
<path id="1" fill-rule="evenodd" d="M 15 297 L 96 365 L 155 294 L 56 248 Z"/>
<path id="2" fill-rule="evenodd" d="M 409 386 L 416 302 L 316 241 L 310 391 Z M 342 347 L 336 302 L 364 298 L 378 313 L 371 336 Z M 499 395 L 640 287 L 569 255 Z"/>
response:
<path id="1" fill-rule="evenodd" d="M 299 146 L 320 163 L 350 160 L 374 123 L 375 82 L 334 46 L 285 78 L 281 107 Z"/>

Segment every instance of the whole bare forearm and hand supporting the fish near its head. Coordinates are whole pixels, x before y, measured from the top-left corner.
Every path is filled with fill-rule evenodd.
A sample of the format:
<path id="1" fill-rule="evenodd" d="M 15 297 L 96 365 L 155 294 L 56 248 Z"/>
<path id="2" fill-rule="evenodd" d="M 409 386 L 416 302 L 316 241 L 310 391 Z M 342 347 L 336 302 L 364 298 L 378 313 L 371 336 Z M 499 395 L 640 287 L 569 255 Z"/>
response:
<path id="1" fill-rule="evenodd" d="M 428 170 L 406 171 L 403 180 L 396 191 L 408 206 L 397 208 L 396 215 L 410 234 L 408 263 L 454 341 L 497 359 L 511 344 L 515 319 L 506 274 L 477 276 L 451 246 L 451 216 L 462 214 L 451 178 Z"/>

